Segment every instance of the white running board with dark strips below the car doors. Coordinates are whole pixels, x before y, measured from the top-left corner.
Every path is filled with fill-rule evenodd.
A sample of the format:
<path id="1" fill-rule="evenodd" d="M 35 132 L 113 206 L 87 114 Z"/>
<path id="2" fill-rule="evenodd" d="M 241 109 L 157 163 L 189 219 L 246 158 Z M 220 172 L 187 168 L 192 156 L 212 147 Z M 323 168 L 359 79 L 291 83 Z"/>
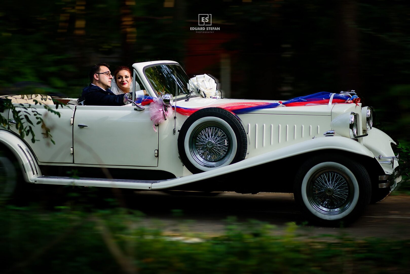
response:
<path id="1" fill-rule="evenodd" d="M 153 183 L 164 182 L 168 180 L 121 180 L 121 179 L 95 179 L 95 178 L 73 178 L 73 177 L 55 177 L 39 176 L 34 179 L 34 184 L 59 184 L 73 185 L 81 187 L 117 187 L 126 189 L 146 189 L 150 190 Z"/>

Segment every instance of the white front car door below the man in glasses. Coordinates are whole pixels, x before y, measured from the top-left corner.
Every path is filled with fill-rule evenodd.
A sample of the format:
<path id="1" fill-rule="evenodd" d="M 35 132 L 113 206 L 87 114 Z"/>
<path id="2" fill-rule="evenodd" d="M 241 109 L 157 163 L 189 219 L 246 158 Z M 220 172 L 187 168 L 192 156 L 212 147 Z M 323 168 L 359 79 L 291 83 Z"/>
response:
<path id="1" fill-rule="evenodd" d="M 158 166 L 158 134 L 149 106 L 77 106 L 74 115 L 74 163 Z"/>

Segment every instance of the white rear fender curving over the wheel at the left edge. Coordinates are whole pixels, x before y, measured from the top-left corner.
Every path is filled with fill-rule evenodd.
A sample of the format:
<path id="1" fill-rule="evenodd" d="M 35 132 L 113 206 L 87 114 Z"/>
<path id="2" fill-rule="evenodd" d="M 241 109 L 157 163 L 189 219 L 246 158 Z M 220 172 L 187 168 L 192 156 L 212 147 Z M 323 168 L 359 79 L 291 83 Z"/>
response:
<path id="1" fill-rule="evenodd" d="M 34 154 L 21 138 L 9 131 L 0 130 L 0 143 L 14 154 L 19 166 L 23 167 L 23 178 L 26 182 L 34 182 L 37 176 L 41 176 Z"/>

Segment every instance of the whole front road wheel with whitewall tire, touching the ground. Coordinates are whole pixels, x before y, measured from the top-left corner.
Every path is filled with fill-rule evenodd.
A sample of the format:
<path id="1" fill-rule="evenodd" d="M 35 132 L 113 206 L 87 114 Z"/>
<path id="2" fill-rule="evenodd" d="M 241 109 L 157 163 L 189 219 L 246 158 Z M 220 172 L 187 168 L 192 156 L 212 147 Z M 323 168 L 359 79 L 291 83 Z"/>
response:
<path id="1" fill-rule="evenodd" d="M 294 196 L 314 223 L 346 225 L 369 204 L 371 182 L 360 163 L 344 156 L 320 155 L 303 163 L 298 170 Z"/>

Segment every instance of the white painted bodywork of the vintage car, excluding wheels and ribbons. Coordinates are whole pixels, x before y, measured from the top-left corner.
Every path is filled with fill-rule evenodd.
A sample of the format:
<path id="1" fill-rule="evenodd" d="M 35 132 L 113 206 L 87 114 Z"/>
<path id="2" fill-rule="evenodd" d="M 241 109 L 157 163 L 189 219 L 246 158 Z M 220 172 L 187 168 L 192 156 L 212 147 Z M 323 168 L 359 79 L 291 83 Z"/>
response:
<path id="1" fill-rule="evenodd" d="M 143 86 L 141 89 L 145 89 L 151 97 L 158 97 L 158 93 L 154 90 L 144 70 L 158 64 L 178 65 L 173 61 L 143 62 L 133 65 L 134 87 L 136 84 L 138 86 L 136 81 L 139 81 L 139 85 Z M 133 98 L 135 96 L 134 92 Z M 176 104 L 179 107 L 196 109 L 243 101 L 279 102 L 199 96 L 193 96 L 189 101 L 185 101 L 185 97 L 185 94 L 180 95 L 178 99 L 174 96 L 173 106 Z M 335 152 L 340 152 L 366 167 L 371 177 L 372 195 L 375 195 L 374 193 L 379 188 L 392 191 L 401 181 L 398 159 L 395 158 L 391 147 L 391 144 L 395 144 L 394 141 L 376 128 L 366 130 L 364 124 L 366 120 L 362 117 L 360 103 L 280 106 L 238 114 L 237 117 L 246 132 L 245 159 L 230 164 L 224 163 L 216 168 L 205 168 L 203 172 L 196 174 L 191 173 L 185 163 L 182 163 L 178 151 L 179 130 L 188 119 L 186 115 L 174 111 L 172 117 L 168 117 L 164 122 L 155 126 L 157 129 L 155 132 L 153 121 L 150 120 L 150 105 L 144 106 L 143 111 L 137 111 L 133 104 L 125 106 L 67 104 L 58 109 L 52 104 L 48 106 L 58 111 L 61 117 L 51 114 L 42 105 L 31 105 L 31 108 L 42 113 L 43 120 L 51 130 L 55 145 L 50 142 L 49 138 L 39 138 L 43 132 L 40 126 L 34 127 L 39 141 L 32 143 L 30 136 L 21 138 L 12 125 L 11 112 L 2 113 L 3 116 L 8 115 L 11 124 L 9 129 L 0 130 L 0 143 L 7 147 L 8 151 L 12 152 L 20 162 L 20 166 L 23 167 L 23 178 L 28 183 L 141 190 L 205 189 L 206 191 L 243 193 L 274 191 L 277 186 L 279 189 L 284 189 L 283 191 L 292 192 L 293 176 L 280 176 L 282 180 L 279 182 L 272 180 L 270 184 L 266 182 L 262 184 L 254 180 L 255 177 L 251 175 L 252 168 L 269 166 L 269 173 L 266 168 L 264 169 L 266 174 L 276 177 L 276 174 L 282 172 L 295 173 L 295 170 L 298 170 L 303 161 L 309 157 Z M 332 122 L 337 117 L 351 112 L 356 113 L 358 117 L 357 135 L 368 134 L 367 136 L 355 140 L 338 136 L 338 132 L 330 134 L 335 136 L 323 136 L 327 131 L 335 130 Z M 84 125 L 84 127 L 79 125 Z M 294 161 L 294 166 L 289 166 L 288 163 L 282 161 L 291 157 L 297 159 Z M 116 178 L 109 172 L 104 173 L 105 176 L 93 178 L 85 174 L 70 177 L 57 172 L 59 169 L 69 170 L 70 168 L 82 168 L 82 170 L 107 168 L 117 170 L 119 173 L 123 170 L 124 173 L 133 173 L 134 177 L 128 177 L 134 179 Z M 139 177 L 142 170 L 144 176 Z M 53 173 L 53 171 L 56 172 Z M 159 171 L 162 172 L 160 178 L 155 176 Z M 209 182 L 216 182 L 226 176 L 234 176 L 236 173 L 240 176 L 244 173 L 248 174 L 248 178 L 240 186 L 234 187 L 235 184 L 228 184 L 225 187 L 221 181 L 219 188 L 204 187 Z M 152 178 L 150 174 L 153 175 Z M 286 179 L 287 177 L 289 180 Z M 215 184 L 210 185 L 215 186 Z M 318 217 L 328 221 L 344 219 L 344 216 L 340 218 Z"/>

